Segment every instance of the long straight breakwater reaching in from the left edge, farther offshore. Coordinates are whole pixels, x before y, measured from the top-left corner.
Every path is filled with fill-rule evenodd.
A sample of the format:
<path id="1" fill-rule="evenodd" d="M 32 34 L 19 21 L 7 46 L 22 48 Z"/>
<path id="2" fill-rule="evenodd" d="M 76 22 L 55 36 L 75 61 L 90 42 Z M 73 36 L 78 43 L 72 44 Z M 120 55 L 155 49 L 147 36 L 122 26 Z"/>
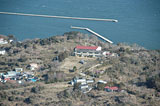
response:
<path id="1" fill-rule="evenodd" d="M 44 18 L 62 18 L 62 19 L 74 19 L 74 20 L 118 22 L 118 20 L 115 20 L 115 19 L 102 19 L 102 18 L 67 17 L 67 16 L 52 16 L 52 15 L 25 14 L 25 13 L 12 13 L 12 12 L 0 12 L 0 14 L 34 16 L 34 17 L 44 17 Z"/>

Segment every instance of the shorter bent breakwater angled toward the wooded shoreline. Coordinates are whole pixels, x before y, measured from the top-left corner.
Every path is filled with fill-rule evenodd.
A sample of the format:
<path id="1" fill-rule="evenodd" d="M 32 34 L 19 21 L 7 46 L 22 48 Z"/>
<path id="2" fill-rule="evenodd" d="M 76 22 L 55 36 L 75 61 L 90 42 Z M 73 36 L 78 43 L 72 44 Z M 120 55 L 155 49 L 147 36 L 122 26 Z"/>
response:
<path id="1" fill-rule="evenodd" d="M 94 32 L 93 30 L 91 30 L 91 29 L 89 29 L 89 28 L 84 28 L 84 27 L 75 27 L 75 26 L 71 26 L 71 28 L 73 28 L 73 29 L 86 30 L 86 31 L 88 31 L 88 32 L 90 32 L 90 33 L 92 33 L 92 34 L 94 34 L 94 35 L 98 36 L 99 38 L 101 38 L 101 39 L 105 40 L 105 41 L 106 41 L 106 42 L 108 42 L 108 43 L 113 43 L 111 40 L 109 40 L 109 39 L 107 39 L 107 38 L 103 37 L 102 35 L 100 35 L 100 34 L 98 34 L 98 33 Z"/>

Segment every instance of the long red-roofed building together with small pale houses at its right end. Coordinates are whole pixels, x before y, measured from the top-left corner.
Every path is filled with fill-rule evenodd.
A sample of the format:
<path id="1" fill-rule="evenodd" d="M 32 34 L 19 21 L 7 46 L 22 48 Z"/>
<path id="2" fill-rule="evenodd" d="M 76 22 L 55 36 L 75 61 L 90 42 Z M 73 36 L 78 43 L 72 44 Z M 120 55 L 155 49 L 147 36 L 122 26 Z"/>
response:
<path id="1" fill-rule="evenodd" d="M 76 46 L 74 48 L 74 55 L 78 57 L 118 57 L 116 53 L 102 51 L 102 47 L 100 46 Z"/>

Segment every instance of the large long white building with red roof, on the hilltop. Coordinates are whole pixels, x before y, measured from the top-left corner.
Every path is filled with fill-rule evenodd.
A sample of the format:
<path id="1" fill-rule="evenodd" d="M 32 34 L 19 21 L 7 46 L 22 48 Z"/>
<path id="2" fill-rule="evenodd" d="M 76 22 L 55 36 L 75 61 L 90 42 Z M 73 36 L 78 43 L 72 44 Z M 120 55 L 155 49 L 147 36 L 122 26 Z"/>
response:
<path id="1" fill-rule="evenodd" d="M 100 57 L 100 46 L 76 46 L 74 49 L 74 55 L 79 57 Z"/>

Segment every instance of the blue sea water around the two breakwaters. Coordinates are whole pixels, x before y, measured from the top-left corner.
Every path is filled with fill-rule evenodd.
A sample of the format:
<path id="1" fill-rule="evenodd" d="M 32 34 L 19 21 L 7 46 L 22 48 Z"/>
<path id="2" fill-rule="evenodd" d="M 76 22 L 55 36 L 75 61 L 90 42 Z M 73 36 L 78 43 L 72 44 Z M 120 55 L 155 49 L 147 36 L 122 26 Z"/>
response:
<path id="1" fill-rule="evenodd" d="M 73 17 L 113 18 L 118 23 L 0 14 L 0 34 L 18 40 L 46 38 L 88 27 L 114 43 L 160 49 L 160 0 L 0 0 L 0 11 Z"/>

